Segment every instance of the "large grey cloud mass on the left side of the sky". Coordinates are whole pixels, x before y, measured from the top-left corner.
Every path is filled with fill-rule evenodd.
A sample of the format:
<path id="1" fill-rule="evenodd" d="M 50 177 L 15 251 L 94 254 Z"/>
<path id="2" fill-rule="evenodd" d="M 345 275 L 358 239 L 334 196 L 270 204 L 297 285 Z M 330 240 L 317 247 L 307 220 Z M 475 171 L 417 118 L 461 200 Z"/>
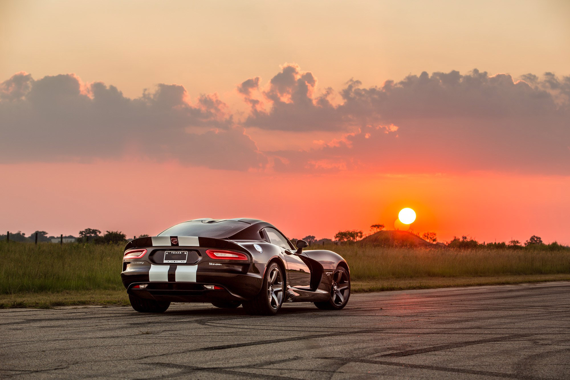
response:
<path id="1" fill-rule="evenodd" d="M 267 163 L 217 95 L 192 103 L 175 84 L 129 99 L 115 86 L 72 74 L 34 80 L 21 72 L 0 85 L 0 120 L 2 163 L 125 155 L 215 169 Z"/>

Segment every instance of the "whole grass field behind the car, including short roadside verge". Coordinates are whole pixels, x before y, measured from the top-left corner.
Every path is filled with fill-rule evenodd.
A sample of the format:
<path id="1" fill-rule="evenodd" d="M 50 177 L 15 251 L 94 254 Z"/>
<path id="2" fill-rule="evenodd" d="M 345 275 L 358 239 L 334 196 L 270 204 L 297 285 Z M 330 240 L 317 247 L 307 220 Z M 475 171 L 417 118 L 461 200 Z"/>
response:
<path id="1" fill-rule="evenodd" d="M 568 249 L 324 248 L 347 259 L 354 292 L 570 280 Z M 128 304 L 122 254 L 122 245 L 0 242 L 0 307 Z"/>

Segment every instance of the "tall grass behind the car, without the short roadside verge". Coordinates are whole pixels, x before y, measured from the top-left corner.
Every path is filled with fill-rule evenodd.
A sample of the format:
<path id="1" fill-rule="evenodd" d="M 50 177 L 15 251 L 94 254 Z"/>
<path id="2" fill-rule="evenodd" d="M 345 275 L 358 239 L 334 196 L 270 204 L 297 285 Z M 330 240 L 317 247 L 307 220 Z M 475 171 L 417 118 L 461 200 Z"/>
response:
<path id="1" fill-rule="evenodd" d="M 0 294 L 122 290 L 123 245 L 0 242 Z M 341 254 L 353 280 L 570 273 L 570 250 L 314 246 Z"/>

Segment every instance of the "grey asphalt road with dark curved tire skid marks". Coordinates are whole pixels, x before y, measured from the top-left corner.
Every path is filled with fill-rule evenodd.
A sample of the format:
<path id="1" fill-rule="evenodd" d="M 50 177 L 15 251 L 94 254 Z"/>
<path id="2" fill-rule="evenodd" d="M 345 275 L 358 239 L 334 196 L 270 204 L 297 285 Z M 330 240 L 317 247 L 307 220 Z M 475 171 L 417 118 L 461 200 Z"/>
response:
<path id="1" fill-rule="evenodd" d="M 0 310 L 5 378 L 570 378 L 570 282 L 353 294 L 275 317 Z"/>

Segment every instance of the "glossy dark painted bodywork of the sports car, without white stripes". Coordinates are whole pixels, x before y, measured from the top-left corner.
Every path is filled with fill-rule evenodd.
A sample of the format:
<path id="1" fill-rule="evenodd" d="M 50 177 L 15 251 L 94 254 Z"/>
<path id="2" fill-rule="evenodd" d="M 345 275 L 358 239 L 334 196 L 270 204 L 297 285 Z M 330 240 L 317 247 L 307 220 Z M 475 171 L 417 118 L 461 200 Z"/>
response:
<path id="1" fill-rule="evenodd" d="M 299 254 L 288 240 L 290 248 L 287 249 L 268 241 L 263 229 L 275 228 L 270 223 L 239 220 L 250 225 L 226 238 L 198 237 L 200 246 L 153 246 L 152 237 L 129 241 L 125 250 L 146 248 L 148 252 L 141 258 L 124 260 L 121 279 L 127 292 L 141 298 L 173 302 L 245 301 L 260 292 L 267 264 L 275 261 L 282 267 L 286 280 L 285 302 L 318 302 L 328 300 L 333 271 L 339 265 L 348 270 L 347 262 L 335 252 L 303 250 Z M 209 248 L 242 252 L 248 260 L 213 259 L 206 254 Z M 168 281 L 149 281 L 151 265 L 164 265 L 165 250 L 189 252 L 188 264 L 176 265 L 196 265 L 196 282 L 176 282 L 174 264 L 168 271 Z M 139 284 L 148 284 L 148 288 L 133 289 Z M 218 285 L 223 289 L 209 290 L 203 285 Z"/>

